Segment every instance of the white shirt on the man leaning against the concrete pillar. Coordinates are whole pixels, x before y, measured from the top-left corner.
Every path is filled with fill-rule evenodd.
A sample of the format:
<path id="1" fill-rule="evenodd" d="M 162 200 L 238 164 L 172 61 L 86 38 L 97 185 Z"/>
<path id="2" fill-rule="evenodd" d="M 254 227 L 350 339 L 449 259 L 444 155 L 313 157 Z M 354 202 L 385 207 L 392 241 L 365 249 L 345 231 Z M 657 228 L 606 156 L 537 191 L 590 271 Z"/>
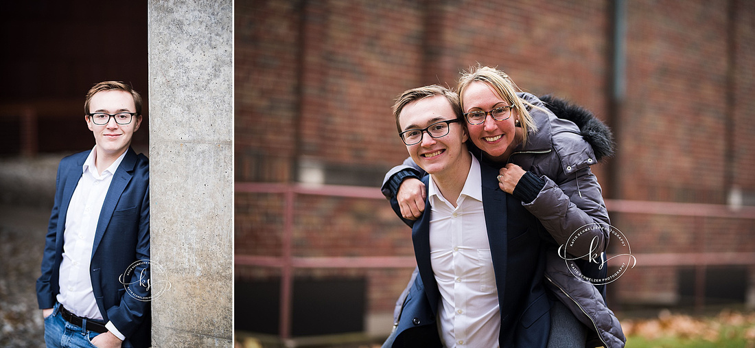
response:
<path id="1" fill-rule="evenodd" d="M 63 261 L 60 262 L 60 294 L 57 301 L 71 313 L 90 319 L 103 319 L 97 300 L 94 300 L 89 265 L 94 233 L 107 190 L 126 153 L 116 159 L 102 174 L 97 173 L 94 160 L 97 146 L 89 152 L 82 166 L 82 177 L 73 191 L 66 211 L 63 233 Z M 125 271 L 125 269 L 124 269 Z"/>

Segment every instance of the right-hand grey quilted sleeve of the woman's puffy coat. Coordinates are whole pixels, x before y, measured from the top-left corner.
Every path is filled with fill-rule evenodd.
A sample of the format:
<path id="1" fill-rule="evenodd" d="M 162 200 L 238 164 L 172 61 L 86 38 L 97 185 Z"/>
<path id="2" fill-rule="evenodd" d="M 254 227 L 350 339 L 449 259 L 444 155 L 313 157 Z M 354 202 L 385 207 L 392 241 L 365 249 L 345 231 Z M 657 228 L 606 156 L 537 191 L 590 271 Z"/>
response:
<path id="1" fill-rule="evenodd" d="M 541 176 L 545 186 L 529 203 L 523 203 L 543 223 L 557 245 L 573 257 L 599 258 L 609 242 L 610 222 L 602 189 L 590 167 L 553 178 Z M 592 228 L 595 227 L 595 228 Z M 577 233 L 582 233 L 575 238 Z"/>

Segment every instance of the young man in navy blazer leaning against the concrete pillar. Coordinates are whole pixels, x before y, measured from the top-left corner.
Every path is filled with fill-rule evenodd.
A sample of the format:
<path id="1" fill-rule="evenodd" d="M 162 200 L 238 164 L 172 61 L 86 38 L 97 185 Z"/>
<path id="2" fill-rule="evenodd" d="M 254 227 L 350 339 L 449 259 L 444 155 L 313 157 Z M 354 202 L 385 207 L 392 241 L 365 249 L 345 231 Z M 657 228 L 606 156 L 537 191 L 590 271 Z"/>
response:
<path id="1" fill-rule="evenodd" d="M 84 103 L 94 148 L 57 170 L 37 300 L 48 347 L 150 346 L 149 162 L 131 149 L 140 94 L 100 82 Z"/>

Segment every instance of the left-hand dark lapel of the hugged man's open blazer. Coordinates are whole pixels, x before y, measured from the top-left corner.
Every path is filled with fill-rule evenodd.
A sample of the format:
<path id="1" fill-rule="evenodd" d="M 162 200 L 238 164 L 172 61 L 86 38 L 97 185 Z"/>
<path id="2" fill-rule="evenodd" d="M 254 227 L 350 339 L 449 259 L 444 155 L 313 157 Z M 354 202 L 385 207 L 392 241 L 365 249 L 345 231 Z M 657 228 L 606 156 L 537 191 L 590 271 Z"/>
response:
<path id="1" fill-rule="evenodd" d="M 422 178 L 425 187 L 428 187 L 430 176 Z M 417 266 L 420 270 L 420 277 L 427 294 L 427 300 L 433 313 L 438 313 L 438 284 L 433 275 L 433 266 L 430 263 L 430 201 L 429 197 L 425 199 L 424 214 L 414 223 L 411 228 L 411 240 L 414 244 L 414 257 L 417 259 Z"/>

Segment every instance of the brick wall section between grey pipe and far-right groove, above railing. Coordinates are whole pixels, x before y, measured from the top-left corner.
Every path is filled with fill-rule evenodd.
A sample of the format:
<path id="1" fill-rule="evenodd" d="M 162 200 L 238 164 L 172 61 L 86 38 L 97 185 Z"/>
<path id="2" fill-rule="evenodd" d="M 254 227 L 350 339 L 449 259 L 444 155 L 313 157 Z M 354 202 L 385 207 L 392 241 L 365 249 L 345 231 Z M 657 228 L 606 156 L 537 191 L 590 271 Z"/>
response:
<path id="1" fill-rule="evenodd" d="M 726 202 L 726 20 L 716 2 L 627 7 L 623 198 Z"/>

